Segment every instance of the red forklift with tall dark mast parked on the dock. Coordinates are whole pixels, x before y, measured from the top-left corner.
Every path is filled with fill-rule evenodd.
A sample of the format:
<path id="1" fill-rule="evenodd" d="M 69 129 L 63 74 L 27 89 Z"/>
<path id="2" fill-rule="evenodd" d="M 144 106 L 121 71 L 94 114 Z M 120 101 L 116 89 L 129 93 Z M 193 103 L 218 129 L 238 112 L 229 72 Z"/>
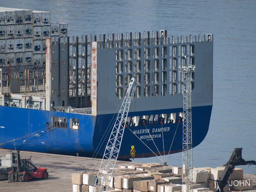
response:
<path id="1" fill-rule="evenodd" d="M 11 151 L 12 171 L 8 174 L 9 181 L 29 181 L 31 178 L 48 178 L 46 168 L 36 167 L 31 163 L 30 159 L 21 159 L 20 151 Z"/>

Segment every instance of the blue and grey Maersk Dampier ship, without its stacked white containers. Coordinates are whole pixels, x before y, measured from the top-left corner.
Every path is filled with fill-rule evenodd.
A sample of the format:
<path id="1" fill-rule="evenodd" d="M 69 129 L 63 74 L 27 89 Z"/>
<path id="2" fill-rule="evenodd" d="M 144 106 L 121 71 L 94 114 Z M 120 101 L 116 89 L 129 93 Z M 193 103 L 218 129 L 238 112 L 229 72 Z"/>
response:
<path id="1" fill-rule="evenodd" d="M 193 147 L 204 140 L 212 111 L 213 34 L 50 36 L 45 44 L 40 65 L 14 60 L 0 66 L 0 148 L 102 156 L 136 78 L 119 158 L 131 158 L 132 146 L 135 158 L 181 152 L 184 78 L 178 67 L 188 64 L 196 65 Z"/>

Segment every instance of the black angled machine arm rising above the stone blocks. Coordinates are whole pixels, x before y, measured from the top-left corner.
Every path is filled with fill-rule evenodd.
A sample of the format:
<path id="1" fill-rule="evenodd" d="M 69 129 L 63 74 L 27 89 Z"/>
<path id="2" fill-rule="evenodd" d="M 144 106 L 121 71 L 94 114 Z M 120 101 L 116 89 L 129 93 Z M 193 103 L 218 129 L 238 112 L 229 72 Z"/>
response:
<path id="1" fill-rule="evenodd" d="M 254 160 L 251 161 L 245 161 L 242 158 L 242 149 L 243 148 L 235 148 L 229 161 L 224 164 L 225 169 L 221 175 L 220 178 L 216 180 L 216 188 L 214 189 L 214 192 L 223 192 L 223 188 L 228 183 L 229 177 L 234 171 L 235 166 L 238 165 L 256 165 L 256 162 Z M 228 186 L 229 188 L 229 186 Z M 229 188 L 230 191 L 230 188 Z"/>

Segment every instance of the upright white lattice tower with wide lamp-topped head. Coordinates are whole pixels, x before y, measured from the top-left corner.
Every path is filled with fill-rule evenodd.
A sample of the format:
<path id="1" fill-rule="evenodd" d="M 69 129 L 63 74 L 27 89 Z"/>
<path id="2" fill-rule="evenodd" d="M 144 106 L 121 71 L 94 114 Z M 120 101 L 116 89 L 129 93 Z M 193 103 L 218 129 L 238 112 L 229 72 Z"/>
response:
<path id="1" fill-rule="evenodd" d="M 191 120 L 191 76 L 196 66 L 179 66 L 184 78 L 183 87 L 183 148 L 182 148 L 182 192 L 193 192 L 192 167 L 192 120 Z"/>

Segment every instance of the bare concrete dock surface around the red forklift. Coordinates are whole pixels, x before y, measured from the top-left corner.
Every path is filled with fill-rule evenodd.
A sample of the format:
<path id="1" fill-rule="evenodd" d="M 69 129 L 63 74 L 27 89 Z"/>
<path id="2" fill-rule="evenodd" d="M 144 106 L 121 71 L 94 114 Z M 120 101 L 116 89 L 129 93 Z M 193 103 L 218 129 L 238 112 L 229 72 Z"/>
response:
<path id="1" fill-rule="evenodd" d="M 0 157 L 10 153 L 10 150 L 0 149 Z M 101 159 L 86 157 L 46 154 L 38 152 L 20 151 L 21 158 L 30 158 L 33 164 L 48 169 L 49 177 L 46 180 L 35 178 L 29 182 L 0 181 L 0 192 L 72 192 L 72 173 L 90 172 L 100 168 Z M 119 165 L 142 165 L 142 163 L 117 161 Z M 256 175 L 244 174 L 244 179 L 250 178 L 253 189 L 247 192 L 256 192 Z"/>

